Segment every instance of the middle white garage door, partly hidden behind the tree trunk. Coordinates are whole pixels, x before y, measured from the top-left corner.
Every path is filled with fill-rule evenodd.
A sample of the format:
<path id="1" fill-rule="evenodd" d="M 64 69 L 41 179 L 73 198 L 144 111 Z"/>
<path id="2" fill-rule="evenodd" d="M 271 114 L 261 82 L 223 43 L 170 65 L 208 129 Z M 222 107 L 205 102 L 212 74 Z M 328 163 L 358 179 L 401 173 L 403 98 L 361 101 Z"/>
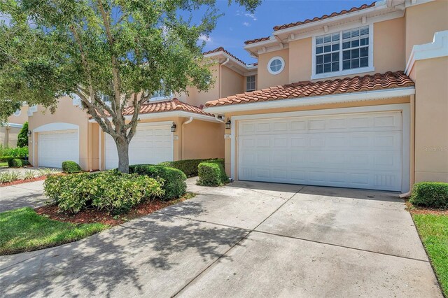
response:
<path id="1" fill-rule="evenodd" d="M 129 164 L 158 164 L 173 160 L 171 125 L 137 125 L 137 132 L 129 146 Z M 106 169 L 118 167 L 115 141 L 106 134 Z"/>

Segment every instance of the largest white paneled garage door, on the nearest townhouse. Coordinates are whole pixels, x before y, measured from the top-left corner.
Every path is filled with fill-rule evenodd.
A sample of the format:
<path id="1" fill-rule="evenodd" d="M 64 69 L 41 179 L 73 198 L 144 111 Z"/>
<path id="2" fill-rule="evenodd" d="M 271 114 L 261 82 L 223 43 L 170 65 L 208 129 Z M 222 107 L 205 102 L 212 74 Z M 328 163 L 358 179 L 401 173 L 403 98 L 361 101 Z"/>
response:
<path id="1" fill-rule="evenodd" d="M 239 122 L 239 180 L 401 190 L 401 112 Z"/>

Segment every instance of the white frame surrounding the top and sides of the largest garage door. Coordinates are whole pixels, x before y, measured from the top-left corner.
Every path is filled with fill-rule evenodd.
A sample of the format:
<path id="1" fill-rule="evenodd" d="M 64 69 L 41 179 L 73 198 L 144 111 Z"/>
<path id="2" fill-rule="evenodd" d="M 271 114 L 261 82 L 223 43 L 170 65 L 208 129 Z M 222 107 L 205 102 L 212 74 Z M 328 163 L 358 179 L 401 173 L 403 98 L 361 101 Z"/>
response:
<path id="1" fill-rule="evenodd" d="M 379 106 L 358 106 L 352 108 L 331 108 L 325 110 L 311 110 L 311 111 L 295 111 L 284 113 L 265 113 L 255 115 L 237 115 L 232 116 L 232 134 L 230 146 L 230 175 L 237 180 L 235 169 L 236 164 L 236 143 L 237 143 L 237 123 L 239 120 L 256 120 L 269 118 L 292 118 L 310 115 L 338 115 L 349 113 L 370 113 L 381 111 L 401 111 L 402 112 L 402 186 L 401 192 L 409 192 L 410 187 L 410 106 L 409 104 L 384 104 Z"/>

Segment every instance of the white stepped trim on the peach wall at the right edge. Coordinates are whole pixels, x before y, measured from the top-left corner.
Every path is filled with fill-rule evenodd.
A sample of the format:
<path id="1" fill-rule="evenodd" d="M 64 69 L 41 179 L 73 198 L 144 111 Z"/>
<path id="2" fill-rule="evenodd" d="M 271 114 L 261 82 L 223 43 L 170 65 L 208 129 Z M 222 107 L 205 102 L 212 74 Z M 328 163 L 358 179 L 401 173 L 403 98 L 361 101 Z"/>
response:
<path id="1" fill-rule="evenodd" d="M 409 76 L 417 60 L 448 56 L 448 30 L 435 32 L 432 43 L 414 45 L 407 60 L 405 73 Z"/>

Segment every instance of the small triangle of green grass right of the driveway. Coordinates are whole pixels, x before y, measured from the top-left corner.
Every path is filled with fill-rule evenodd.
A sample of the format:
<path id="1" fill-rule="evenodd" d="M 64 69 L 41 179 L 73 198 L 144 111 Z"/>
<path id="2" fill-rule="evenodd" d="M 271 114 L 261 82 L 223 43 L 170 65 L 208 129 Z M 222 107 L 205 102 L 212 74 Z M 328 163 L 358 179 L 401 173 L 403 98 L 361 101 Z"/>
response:
<path id="1" fill-rule="evenodd" d="M 412 216 L 444 295 L 448 297 L 448 216 L 432 214 Z"/>

